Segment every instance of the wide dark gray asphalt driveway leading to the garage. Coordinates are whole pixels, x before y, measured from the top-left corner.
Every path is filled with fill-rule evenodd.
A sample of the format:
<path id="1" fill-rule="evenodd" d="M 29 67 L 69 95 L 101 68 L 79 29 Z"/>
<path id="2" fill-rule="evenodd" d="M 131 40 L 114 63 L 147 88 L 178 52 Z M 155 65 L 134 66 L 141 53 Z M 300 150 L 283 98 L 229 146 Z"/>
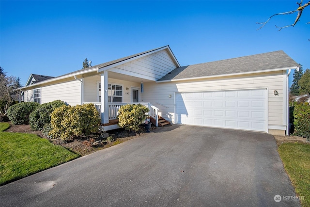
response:
<path id="1" fill-rule="evenodd" d="M 300 206 L 273 136 L 174 125 L 0 187 L 0 206 Z"/>

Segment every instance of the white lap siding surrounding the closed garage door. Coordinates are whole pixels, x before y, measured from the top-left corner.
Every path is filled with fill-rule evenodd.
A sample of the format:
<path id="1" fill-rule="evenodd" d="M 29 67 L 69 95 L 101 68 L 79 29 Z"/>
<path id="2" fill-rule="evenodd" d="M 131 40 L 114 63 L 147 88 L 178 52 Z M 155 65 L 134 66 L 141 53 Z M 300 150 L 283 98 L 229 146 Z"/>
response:
<path id="1" fill-rule="evenodd" d="M 268 125 L 283 126 L 284 99 L 283 97 L 283 76 L 282 71 L 269 72 L 264 74 L 253 74 L 249 76 L 238 76 L 217 79 L 173 81 L 173 82 L 146 82 L 142 101 L 151 102 L 160 109 L 160 114 L 174 123 L 174 100 L 175 94 L 180 92 L 198 91 L 221 91 L 232 89 L 268 89 Z M 274 96 L 274 90 L 279 96 Z M 169 95 L 172 97 L 170 98 Z"/>

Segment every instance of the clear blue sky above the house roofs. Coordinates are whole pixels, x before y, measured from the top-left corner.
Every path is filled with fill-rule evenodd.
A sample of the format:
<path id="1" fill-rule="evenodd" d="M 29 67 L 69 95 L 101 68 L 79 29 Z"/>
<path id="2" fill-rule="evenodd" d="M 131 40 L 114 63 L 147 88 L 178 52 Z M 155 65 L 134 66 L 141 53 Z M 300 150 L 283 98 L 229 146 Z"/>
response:
<path id="1" fill-rule="evenodd" d="M 305 1 L 306 2 L 306 1 Z M 310 68 L 310 7 L 293 28 L 296 0 L 0 1 L 0 66 L 25 84 L 170 45 L 181 65 L 283 50 Z M 293 75 L 293 73 L 292 73 Z M 292 81 L 292 75 L 290 81 Z"/>

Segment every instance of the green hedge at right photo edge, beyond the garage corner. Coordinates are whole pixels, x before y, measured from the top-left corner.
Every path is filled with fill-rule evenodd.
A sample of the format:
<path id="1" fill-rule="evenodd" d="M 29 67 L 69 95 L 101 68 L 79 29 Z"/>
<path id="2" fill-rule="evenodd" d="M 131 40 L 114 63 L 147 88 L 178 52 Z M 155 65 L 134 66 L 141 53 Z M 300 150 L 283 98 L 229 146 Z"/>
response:
<path id="1" fill-rule="evenodd" d="M 294 135 L 310 140 L 310 106 L 294 106 Z"/>

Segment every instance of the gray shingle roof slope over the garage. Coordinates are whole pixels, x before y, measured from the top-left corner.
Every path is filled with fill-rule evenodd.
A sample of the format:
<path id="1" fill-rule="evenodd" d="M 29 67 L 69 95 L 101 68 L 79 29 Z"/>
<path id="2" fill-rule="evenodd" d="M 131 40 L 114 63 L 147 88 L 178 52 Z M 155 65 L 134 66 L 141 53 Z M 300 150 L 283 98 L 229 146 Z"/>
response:
<path id="1" fill-rule="evenodd" d="M 220 76 L 300 66 L 282 50 L 177 67 L 158 81 Z"/>

